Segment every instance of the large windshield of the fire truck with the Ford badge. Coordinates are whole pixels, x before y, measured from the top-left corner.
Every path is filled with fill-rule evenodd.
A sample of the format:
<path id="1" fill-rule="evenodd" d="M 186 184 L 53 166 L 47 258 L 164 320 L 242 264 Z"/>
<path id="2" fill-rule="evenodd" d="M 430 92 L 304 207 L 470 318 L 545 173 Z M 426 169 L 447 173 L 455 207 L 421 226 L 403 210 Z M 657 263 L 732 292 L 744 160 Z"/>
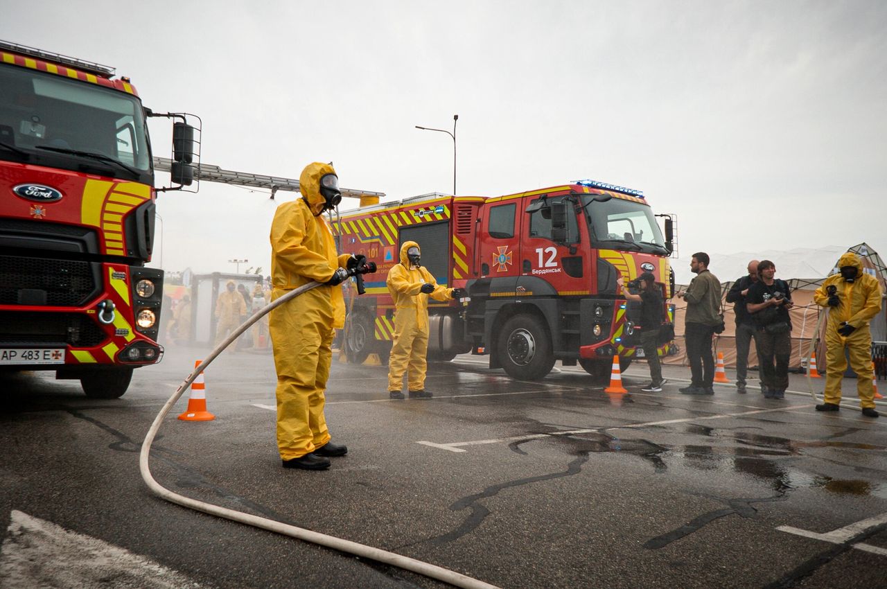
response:
<path id="1" fill-rule="evenodd" d="M 0 159 L 145 181 L 151 153 L 141 102 L 96 84 L 0 66 Z"/>

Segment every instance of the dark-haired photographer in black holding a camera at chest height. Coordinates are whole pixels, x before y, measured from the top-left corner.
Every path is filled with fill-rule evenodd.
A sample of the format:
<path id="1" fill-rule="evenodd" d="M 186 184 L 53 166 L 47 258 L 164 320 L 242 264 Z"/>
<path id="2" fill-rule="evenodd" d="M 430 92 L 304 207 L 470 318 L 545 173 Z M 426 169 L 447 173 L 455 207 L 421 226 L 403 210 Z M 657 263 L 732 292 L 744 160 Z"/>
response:
<path id="1" fill-rule="evenodd" d="M 789 388 L 791 357 L 791 301 L 789 284 L 773 279 L 776 265 L 770 260 L 757 264 L 758 280 L 749 287 L 746 310 L 757 325 L 757 357 L 760 360 L 761 392 L 768 399 L 785 398 Z"/>

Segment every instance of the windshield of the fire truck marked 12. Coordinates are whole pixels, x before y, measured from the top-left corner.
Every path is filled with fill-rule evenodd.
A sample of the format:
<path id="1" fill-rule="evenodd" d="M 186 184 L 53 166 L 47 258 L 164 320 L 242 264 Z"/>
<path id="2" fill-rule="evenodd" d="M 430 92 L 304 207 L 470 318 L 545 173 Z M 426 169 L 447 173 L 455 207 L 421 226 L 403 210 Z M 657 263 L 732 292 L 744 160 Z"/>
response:
<path id="1" fill-rule="evenodd" d="M 647 205 L 614 198 L 601 201 L 600 195 L 594 194 L 580 197 L 594 245 L 651 254 L 669 253 L 653 211 Z"/>

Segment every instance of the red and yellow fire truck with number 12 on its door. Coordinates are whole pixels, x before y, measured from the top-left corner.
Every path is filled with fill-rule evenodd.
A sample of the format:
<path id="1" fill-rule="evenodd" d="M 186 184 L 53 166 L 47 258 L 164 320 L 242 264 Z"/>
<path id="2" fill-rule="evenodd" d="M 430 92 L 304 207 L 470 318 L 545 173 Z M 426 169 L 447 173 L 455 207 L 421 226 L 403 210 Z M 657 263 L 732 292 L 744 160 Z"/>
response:
<path id="1" fill-rule="evenodd" d="M 522 380 L 561 360 L 606 379 L 615 355 L 627 366 L 643 355 L 640 332 L 659 329 L 640 325 L 640 303 L 626 302 L 616 279 L 650 271 L 666 298 L 674 289 L 674 224 L 663 217 L 664 236 L 641 192 L 593 180 L 497 198 L 433 193 L 343 213 L 342 251 L 379 267 L 367 295 L 349 297 L 346 354 L 389 354 L 394 307 L 384 279 L 399 244 L 412 240 L 437 282 L 470 298 L 429 302 L 429 359 L 489 354 L 491 368 Z"/>

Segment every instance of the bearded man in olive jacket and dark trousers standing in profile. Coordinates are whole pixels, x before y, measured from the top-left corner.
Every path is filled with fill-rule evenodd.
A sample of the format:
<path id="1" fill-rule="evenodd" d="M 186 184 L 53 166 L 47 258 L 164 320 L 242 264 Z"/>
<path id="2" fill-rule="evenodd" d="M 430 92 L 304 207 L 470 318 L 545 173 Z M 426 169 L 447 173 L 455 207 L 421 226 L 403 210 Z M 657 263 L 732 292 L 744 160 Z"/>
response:
<path id="1" fill-rule="evenodd" d="M 711 355 L 711 337 L 722 321 L 720 281 L 709 271 L 709 255 L 704 252 L 693 255 L 690 271 L 696 274 L 696 278 L 678 296 L 687 301 L 684 336 L 693 380 L 680 392 L 684 395 L 714 395 L 711 383 L 715 379 L 715 360 Z"/>

